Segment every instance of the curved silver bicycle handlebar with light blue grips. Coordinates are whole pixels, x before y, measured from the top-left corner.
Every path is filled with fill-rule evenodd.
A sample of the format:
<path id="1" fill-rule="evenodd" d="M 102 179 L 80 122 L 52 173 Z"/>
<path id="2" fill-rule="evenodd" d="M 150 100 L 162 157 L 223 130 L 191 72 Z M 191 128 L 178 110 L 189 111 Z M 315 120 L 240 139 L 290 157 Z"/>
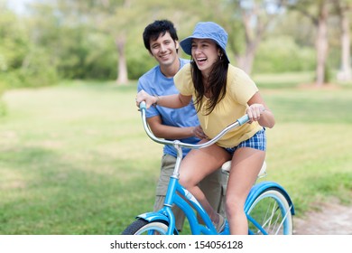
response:
<path id="1" fill-rule="evenodd" d="M 245 115 L 243 117 L 237 118 L 234 123 L 231 123 L 230 125 L 225 127 L 220 133 L 218 133 L 217 136 L 215 136 L 214 138 L 208 140 L 208 142 L 205 142 L 205 143 L 202 143 L 202 144 L 189 144 L 189 143 L 182 143 L 180 140 L 170 141 L 170 140 L 165 140 L 165 139 L 161 139 L 161 138 L 158 138 L 158 137 L 154 136 L 153 132 L 149 129 L 149 126 L 148 126 L 148 124 L 146 122 L 146 116 L 145 116 L 146 105 L 145 105 L 144 101 L 142 101 L 139 104 L 139 108 L 140 108 L 140 111 L 141 111 L 141 114 L 142 114 L 142 122 L 143 122 L 144 130 L 145 130 L 146 134 L 154 142 L 157 142 L 157 143 L 160 143 L 160 144 L 163 144 L 163 145 L 179 145 L 179 146 L 189 147 L 189 148 L 193 148 L 193 149 L 203 148 L 203 147 L 207 147 L 209 145 L 212 145 L 212 144 L 216 143 L 222 136 L 224 136 L 232 128 L 235 128 L 237 126 L 242 126 L 242 125 L 244 125 L 245 123 L 247 123 L 249 121 L 248 115 Z"/>

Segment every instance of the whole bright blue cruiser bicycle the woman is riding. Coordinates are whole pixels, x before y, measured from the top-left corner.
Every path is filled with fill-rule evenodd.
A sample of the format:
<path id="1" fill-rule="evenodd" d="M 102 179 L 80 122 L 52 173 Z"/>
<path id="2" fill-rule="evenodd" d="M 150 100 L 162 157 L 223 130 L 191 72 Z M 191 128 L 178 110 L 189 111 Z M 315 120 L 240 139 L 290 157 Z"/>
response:
<path id="1" fill-rule="evenodd" d="M 153 135 L 146 122 L 145 103 L 140 105 L 144 130 L 147 135 L 155 142 L 164 145 L 173 145 L 177 150 L 177 159 L 174 171 L 166 193 L 163 208 L 160 211 L 146 212 L 140 214 L 124 231 L 123 235 L 177 235 L 179 231 L 175 226 L 175 217 L 171 211 L 172 205 L 177 205 L 185 213 L 186 219 L 190 224 L 190 231 L 193 235 L 208 234 L 217 235 L 213 223 L 208 217 L 207 211 L 203 209 L 199 201 L 179 183 L 179 171 L 182 157 L 181 147 L 203 148 L 212 145 L 224 136 L 230 129 L 242 126 L 249 118 L 238 118 L 236 122 L 223 129 L 218 136 L 209 140 L 207 143 L 191 145 L 181 143 L 181 141 L 164 140 Z M 222 166 L 223 172 L 228 173 L 230 162 Z M 266 164 L 259 173 L 258 177 L 264 176 Z M 199 214 L 199 218 L 197 217 Z M 248 234 L 250 235 L 292 235 L 293 224 L 292 215 L 294 208 L 289 194 L 283 187 L 274 182 L 264 181 L 255 183 L 245 201 L 245 214 L 248 220 Z M 221 235 L 229 234 L 228 223 Z"/>

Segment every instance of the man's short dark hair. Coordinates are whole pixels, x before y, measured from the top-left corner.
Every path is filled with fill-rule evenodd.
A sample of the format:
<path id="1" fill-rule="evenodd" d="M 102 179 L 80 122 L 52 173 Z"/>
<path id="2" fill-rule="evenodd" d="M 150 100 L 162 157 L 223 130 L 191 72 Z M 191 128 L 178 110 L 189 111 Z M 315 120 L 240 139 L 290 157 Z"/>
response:
<path id="1" fill-rule="evenodd" d="M 150 23 L 147 27 L 144 29 L 143 33 L 143 41 L 144 41 L 144 46 L 145 48 L 149 51 L 151 51 L 151 39 L 152 41 L 156 41 L 159 36 L 165 35 L 166 32 L 169 32 L 171 35 L 172 40 L 178 41 L 179 37 L 177 36 L 176 28 L 173 25 L 173 23 L 169 20 L 156 20 L 153 23 Z"/>

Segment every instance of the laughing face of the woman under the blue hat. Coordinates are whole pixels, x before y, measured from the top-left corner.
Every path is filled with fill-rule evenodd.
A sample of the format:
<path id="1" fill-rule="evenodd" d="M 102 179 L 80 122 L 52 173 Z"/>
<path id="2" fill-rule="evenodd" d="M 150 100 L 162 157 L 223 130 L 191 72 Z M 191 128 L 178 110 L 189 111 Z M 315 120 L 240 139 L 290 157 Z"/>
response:
<path id="1" fill-rule="evenodd" d="M 208 75 L 213 64 L 218 61 L 220 50 L 210 39 L 192 39 L 191 55 L 203 75 Z"/>

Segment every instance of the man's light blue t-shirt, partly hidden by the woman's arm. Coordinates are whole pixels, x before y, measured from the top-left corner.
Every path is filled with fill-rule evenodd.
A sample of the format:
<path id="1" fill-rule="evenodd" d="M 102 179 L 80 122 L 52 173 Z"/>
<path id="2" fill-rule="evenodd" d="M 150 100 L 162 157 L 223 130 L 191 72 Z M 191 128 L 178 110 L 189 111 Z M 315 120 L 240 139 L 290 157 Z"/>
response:
<path id="1" fill-rule="evenodd" d="M 188 60 L 180 59 L 181 67 L 180 69 L 188 62 Z M 144 89 L 148 94 L 151 95 L 171 95 L 178 94 L 179 90 L 176 89 L 173 78 L 166 78 L 160 66 L 155 66 L 152 70 L 146 72 L 138 80 L 138 91 Z M 193 102 L 190 101 L 190 104 L 184 108 L 162 108 L 159 106 L 151 107 L 146 110 L 146 117 L 160 116 L 162 118 L 162 125 L 166 126 L 199 126 L 199 120 L 197 117 L 196 109 L 193 106 Z M 199 138 L 189 137 L 181 139 L 181 142 L 197 144 Z M 189 148 L 182 148 L 183 156 L 189 153 Z M 163 154 L 172 155 L 176 157 L 177 152 L 175 148 L 171 145 L 164 145 Z"/>

